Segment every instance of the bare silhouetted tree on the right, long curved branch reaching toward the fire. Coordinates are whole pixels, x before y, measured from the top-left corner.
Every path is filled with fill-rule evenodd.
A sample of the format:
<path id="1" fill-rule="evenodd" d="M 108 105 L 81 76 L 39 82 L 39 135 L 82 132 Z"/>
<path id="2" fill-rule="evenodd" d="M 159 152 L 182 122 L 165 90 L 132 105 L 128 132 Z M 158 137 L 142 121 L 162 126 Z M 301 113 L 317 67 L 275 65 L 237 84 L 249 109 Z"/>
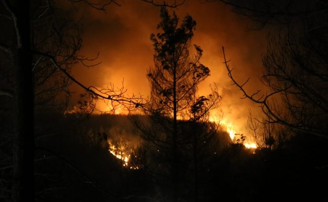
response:
<path id="1" fill-rule="evenodd" d="M 229 77 L 245 97 L 261 105 L 270 123 L 327 138 L 327 46 L 325 34 L 326 9 L 322 1 L 221 1 L 232 5 L 236 12 L 259 23 L 258 28 L 276 26 L 280 31 L 268 36 L 267 52 L 263 56 L 261 77 L 269 92 L 249 93 L 244 85 Z M 257 2 L 257 1 L 256 1 Z"/>

